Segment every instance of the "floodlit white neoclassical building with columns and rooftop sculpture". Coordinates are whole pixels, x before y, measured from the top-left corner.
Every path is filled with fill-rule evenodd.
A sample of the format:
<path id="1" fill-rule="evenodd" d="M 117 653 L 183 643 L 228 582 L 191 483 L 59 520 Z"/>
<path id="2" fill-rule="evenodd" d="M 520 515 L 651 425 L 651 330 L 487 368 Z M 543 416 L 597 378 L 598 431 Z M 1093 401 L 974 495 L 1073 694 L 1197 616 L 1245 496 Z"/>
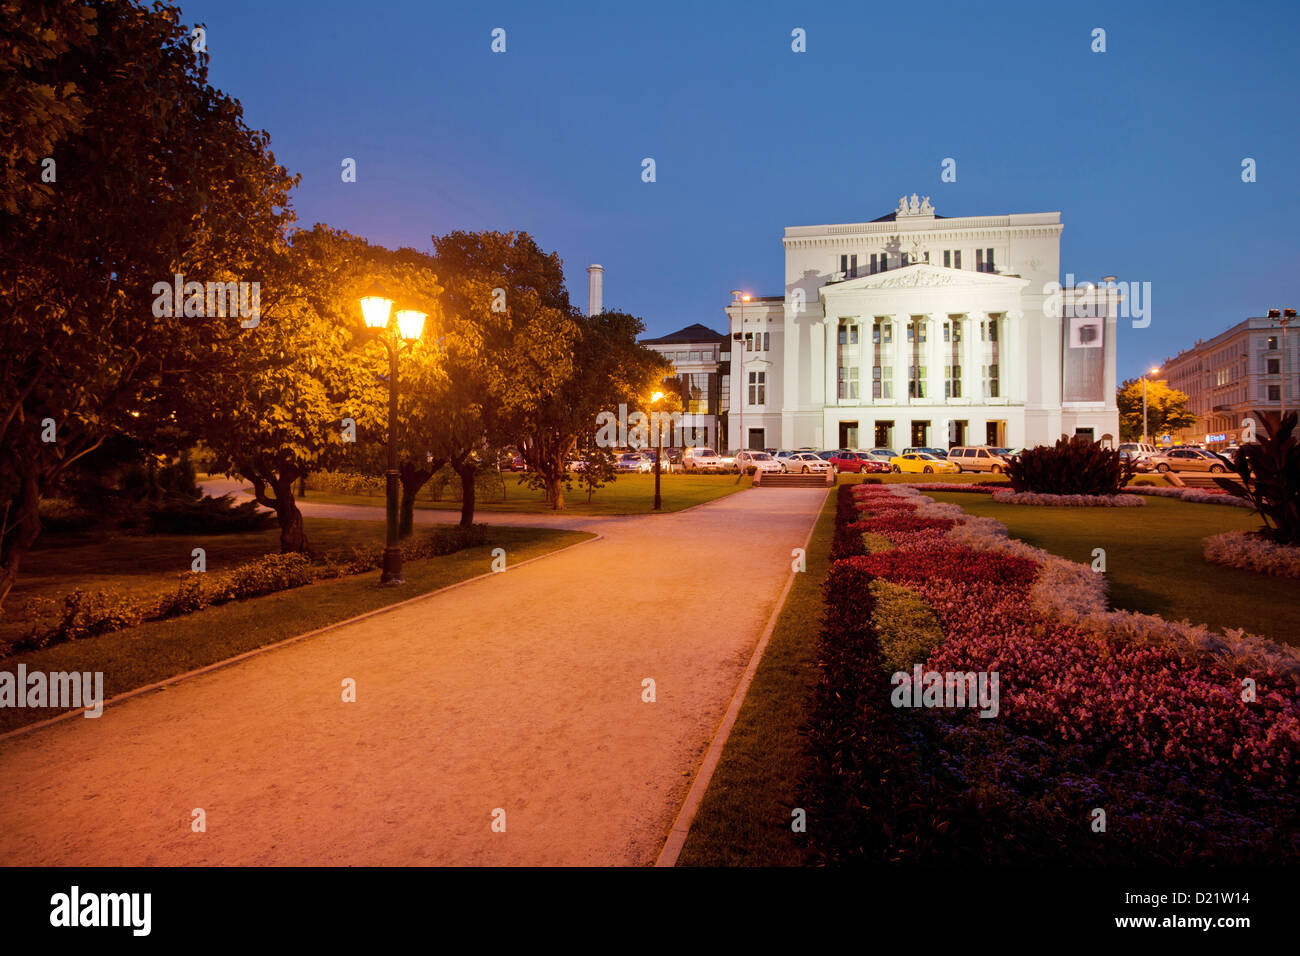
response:
<path id="1" fill-rule="evenodd" d="M 728 445 L 1113 442 L 1114 293 L 1060 289 L 1061 215 L 789 226 L 785 294 L 727 307 Z"/>

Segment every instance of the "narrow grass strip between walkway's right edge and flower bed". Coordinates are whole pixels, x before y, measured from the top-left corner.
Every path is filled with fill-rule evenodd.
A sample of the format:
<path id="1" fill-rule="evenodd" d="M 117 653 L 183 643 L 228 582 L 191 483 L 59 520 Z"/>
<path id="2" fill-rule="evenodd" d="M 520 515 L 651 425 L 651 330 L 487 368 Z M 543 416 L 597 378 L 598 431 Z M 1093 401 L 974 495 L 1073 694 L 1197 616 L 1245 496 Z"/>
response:
<path id="1" fill-rule="evenodd" d="M 810 695 L 819 671 L 822 583 L 831 564 L 835 494 L 809 542 L 807 571 L 794 579 L 754 683 L 741 705 L 708 791 L 690 826 L 679 866 L 798 866 L 803 835 L 790 810 L 803 771 Z"/>

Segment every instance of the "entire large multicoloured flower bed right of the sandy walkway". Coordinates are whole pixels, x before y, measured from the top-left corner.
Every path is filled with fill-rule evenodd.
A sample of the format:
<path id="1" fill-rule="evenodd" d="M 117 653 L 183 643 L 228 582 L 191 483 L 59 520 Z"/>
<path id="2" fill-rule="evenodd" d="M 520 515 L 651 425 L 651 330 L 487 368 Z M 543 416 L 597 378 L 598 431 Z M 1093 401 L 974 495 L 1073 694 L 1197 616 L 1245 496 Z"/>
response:
<path id="1" fill-rule="evenodd" d="M 914 489 L 840 505 L 893 548 L 832 564 L 807 780 L 823 860 L 1300 860 L 1294 648 L 1109 611 L 1102 575 Z M 926 619 L 914 600 L 940 643 L 900 631 Z M 1000 674 L 997 718 L 889 706 L 885 667 L 909 653 Z"/>

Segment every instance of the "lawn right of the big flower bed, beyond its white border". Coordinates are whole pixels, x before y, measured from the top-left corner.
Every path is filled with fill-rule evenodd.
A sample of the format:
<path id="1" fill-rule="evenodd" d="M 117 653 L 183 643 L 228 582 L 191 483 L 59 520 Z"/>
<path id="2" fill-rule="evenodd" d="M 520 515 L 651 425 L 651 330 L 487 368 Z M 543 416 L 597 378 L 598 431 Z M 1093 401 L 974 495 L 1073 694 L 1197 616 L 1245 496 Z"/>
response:
<path id="1" fill-rule="evenodd" d="M 1286 578 L 1212 564 L 1201 540 L 1223 531 L 1253 531 L 1260 519 L 1244 509 L 1148 497 L 1138 509 L 1035 507 L 993 502 L 983 494 L 927 492 L 972 515 L 987 515 L 1031 545 L 1092 563 L 1106 551 L 1106 579 L 1115 607 L 1169 620 L 1244 627 L 1300 645 L 1300 584 Z"/>

